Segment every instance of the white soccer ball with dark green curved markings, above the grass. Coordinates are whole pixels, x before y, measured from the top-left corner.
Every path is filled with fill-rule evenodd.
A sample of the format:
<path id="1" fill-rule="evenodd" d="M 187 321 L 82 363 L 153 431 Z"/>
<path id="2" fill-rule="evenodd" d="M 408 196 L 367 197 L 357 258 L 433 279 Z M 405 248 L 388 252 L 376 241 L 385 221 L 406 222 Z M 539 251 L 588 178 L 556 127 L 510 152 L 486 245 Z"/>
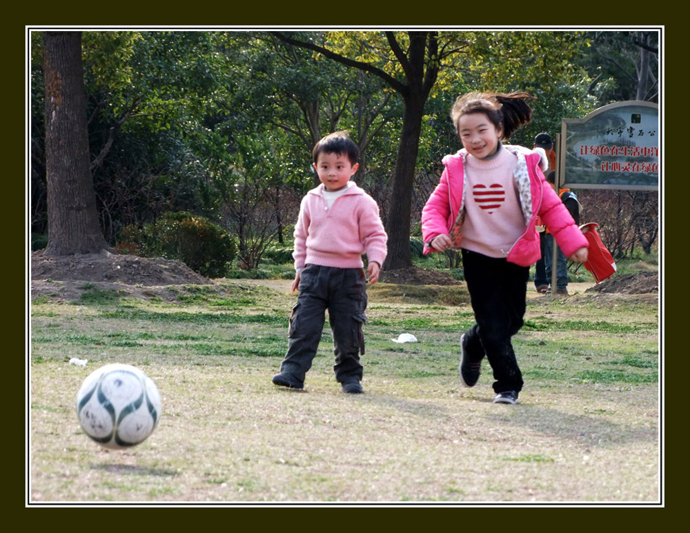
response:
<path id="1" fill-rule="evenodd" d="M 158 425 L 161 410 L 155 383 L 130 365 L 105 365 L 95 370 L 77 392 L 81 429 L 112 450 L 146 440 Z"/>

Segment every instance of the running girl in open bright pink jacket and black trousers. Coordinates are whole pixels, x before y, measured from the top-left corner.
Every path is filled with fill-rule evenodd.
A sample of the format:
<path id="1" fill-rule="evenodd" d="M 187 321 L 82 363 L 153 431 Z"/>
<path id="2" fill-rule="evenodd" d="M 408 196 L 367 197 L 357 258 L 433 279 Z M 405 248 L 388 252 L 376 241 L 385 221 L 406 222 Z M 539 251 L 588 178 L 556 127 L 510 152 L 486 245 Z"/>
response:
<path id="1" fill-rule="evenodd" d="M 544 181 L 544 150 L 502 143 L 531 121 L 531 98 L 473 92 L 455 101 L 451 119 L 464 148 L 444 157 L 422 210 L 424 253 L 462 250 L 475 323 L 460 337 L 460 379 L 475 385 L 486 356 L 494 403 L 517 403 L 522 390 L 511 337 L 522 328 L 529 266 L 540 257 L 537 217 L 566 256 L 587 259 L 586 239 Z"/>

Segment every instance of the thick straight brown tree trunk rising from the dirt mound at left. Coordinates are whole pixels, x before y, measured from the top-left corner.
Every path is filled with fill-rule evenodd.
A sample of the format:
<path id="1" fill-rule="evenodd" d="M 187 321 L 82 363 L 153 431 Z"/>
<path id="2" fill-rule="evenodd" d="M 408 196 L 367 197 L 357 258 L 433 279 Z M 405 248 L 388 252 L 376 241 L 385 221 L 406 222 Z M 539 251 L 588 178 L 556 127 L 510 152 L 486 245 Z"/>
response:
<path id="1" fill-rule="evenodd" d="M 90 172 L 81 32 L 43 33 L 48 246 L 45 255 L 108 249 Z"/>

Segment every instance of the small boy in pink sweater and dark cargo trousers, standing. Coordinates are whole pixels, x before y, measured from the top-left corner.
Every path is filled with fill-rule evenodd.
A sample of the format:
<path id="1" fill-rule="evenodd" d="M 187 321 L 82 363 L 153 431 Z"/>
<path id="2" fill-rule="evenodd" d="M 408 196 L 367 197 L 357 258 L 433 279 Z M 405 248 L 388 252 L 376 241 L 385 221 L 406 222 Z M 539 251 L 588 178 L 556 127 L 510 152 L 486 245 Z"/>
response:
<path id="1" fill-rule="evenodd" d="M 297 303 L 290 316 L 288 352 L 273 383 L 302 389 L 316 355 L 328 309 L 333 331 L 335 379 L 343 392 L 362 390 L 364 354 L 362 323 L 366 321 L 366 274 L 379 279 L 388 236 L 373 198 L 350 181 L 359 167 L 359 148 L 347 132 L 331 133 L 313 150 L 313 166 L 321 185 L 307 192 L 295 225 Z"/>

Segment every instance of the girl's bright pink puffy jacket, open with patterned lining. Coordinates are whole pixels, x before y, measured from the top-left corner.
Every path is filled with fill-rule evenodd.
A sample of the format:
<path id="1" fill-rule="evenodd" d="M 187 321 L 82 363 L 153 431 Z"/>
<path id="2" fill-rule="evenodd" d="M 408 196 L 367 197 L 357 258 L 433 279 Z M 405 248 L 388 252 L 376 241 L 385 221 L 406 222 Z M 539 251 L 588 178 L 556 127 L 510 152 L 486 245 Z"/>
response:
<path id="1" fill-rule="evenodd" d="M 570 213 L 544 179 L 542 168 L 546 166 L 546 155 L 541 148 L 529 150 L 517 145 L 504 145 L 517 156 L 517 165 L 513 170 L 517 190 L 520 192 L 520 206 L 525 219 L 524 232 L 506 251 L 506 259 L 511 263 L 529 266 L 541 257 L 539 233 L 535 225 L 537 217 L 549 228 L 566 257 L 570 257 L 580 248 L 587 248 L 584 235 L 573 221 Z M 461 248 L 462 220 L 464 218 L 464 165 L 466 151 L 443 158 L 444 171 L 439 184 L 431 193 L 422 210 L 422 238 L 424 253 L 434 252 L 428 247 L 440 234 L 450 235 L 455 248 Z"/>

